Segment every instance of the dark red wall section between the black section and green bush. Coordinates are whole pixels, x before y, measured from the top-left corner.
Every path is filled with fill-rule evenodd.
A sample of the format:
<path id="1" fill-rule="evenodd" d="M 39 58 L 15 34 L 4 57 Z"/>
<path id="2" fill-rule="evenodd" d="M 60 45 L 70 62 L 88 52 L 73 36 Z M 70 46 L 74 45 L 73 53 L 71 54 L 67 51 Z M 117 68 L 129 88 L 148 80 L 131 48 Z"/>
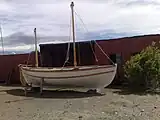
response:
<path id="1" fill-rule="evenodd" d="M 122 66 L 130 59 L 132 53 L 140 52 L 142 49 L 151 45 L 152 42 L 160 41 L 160 35 L 136 36 L 126 37 L 112 40 L 99 40 L 97 43 L 102 49 L 110 54 L 121 54 L 121 64 L 118 65 L 116 77 L 123 77 L 124 72 Z M 107 57 L 101 52 L 97 45 L 95 45 L 95 53 L 98 57 L 99 64 L 109 64 Z"/>

